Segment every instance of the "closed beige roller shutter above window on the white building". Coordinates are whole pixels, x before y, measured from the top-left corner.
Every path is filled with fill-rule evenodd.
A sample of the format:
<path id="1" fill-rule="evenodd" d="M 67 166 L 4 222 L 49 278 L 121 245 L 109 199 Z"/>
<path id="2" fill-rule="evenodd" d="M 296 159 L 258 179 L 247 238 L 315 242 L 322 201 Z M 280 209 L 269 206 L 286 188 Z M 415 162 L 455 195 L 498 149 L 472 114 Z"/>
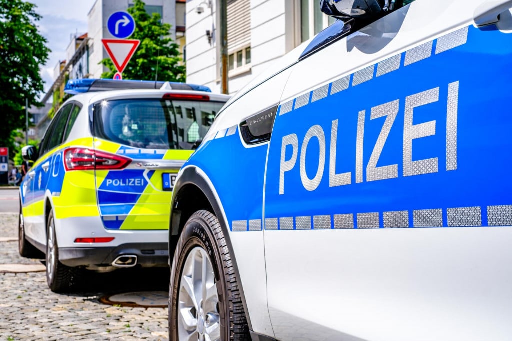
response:
<path id="1" fill-rule="evenodd" d="M 229 53 L 250 46 L 250 0 L 231 0 L 227 4 L 227 46 Z"/>

